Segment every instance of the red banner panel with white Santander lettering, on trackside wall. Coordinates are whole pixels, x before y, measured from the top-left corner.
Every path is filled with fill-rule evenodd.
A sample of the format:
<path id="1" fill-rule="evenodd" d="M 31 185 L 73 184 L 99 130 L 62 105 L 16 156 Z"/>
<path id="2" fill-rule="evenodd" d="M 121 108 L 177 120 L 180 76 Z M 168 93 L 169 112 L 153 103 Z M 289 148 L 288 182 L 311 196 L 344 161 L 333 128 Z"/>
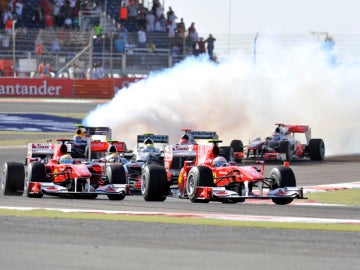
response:
<path id="1" fill-rule="evenodd" d="M 69 79 L 0 79 L 0 97 L 71 98 L 73 91 L 74 82 Z"/>

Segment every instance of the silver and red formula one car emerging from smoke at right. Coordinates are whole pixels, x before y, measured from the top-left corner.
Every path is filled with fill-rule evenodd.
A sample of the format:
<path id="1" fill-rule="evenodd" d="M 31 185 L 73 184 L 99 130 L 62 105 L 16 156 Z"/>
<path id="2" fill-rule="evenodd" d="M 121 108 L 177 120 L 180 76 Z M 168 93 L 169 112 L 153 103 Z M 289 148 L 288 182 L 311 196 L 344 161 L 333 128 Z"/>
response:
<path id="1" fill-rule="evenodd" d="M 275 132 L 264 141 L 257 138 L 244 147 L 245 159 L 281 161 L 301 158 L 324 159 L 324 141 L 322 139 L 312 139 L 309 126 L 276 125 Z M 304 135 L 304 138 L 299 138 L 298 134 Z"/>

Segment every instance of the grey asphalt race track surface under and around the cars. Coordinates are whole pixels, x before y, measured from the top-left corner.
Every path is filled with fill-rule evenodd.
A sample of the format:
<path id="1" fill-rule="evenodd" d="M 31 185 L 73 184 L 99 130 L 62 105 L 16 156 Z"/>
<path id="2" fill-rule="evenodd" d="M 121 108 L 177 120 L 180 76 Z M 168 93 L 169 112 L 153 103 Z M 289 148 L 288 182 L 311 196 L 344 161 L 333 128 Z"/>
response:
<path id="1" fill-rule="evenodd" d="M 88 112 L 97 104 L 1 103 L 0 112 Z M 0 148 L 6 161 L 24 161 L 25 147 Z M 359 156 L 291 164 L 299 186 L 360 181 Z M 277 164 L 269 164 L 269 168 Z M 1 207 L 72 208 L 287 216 L 360 220 L 359 207 L 318 205 L 297 200 L 278 206 L 267 201 L 193 204 L 168 198 L 145 202 L 69 200 L 0 195 Z M 184 217 L 186 218 L 186 217 Z M 120 221 L 0 216 L 2 269 L 358 269 L 360 233 L 175 225 Z"/>

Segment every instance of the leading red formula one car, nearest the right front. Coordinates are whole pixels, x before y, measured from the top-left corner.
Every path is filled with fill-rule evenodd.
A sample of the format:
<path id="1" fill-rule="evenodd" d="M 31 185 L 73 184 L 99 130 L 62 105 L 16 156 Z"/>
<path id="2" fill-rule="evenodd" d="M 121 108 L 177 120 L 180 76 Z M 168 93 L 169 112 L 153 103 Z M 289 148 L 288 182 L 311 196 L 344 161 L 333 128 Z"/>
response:
<path id="1" fill-rule="evenodd" d="M 219 140 L 207 145 L 173 145 L 172 151 L 189 154 L 177 180 L 173 184 L 169 168 L 149 164 L 142 171 L 142 195 L 146 201 L 162 201 L 169 194 L 189 198 L 192 202 L 221 201 L 244 202 L 246 199 L 271 199 L 276 204 L 288 204 L 303 198 L 302 188 L 296 187 L 291 168 L 273 168 L 269 177 L 264 176 L 264 165 L 237 166 L 220 155 Z M 177 153 L 179 154 L 179 153 Z M 165 153 L 165 160 L 172 153 Z M 263 164 L 263 163 L 262 163 Z"/>

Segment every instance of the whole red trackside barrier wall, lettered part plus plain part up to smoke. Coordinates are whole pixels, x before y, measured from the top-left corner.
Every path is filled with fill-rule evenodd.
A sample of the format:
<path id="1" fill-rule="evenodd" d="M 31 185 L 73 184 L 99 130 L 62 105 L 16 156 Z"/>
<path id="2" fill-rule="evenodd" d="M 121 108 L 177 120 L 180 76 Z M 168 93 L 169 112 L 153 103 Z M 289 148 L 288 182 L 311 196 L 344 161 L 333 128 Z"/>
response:
<path id="1" fill-rule="evenodd" d="M 0 78 L 1 97 L 112 99 L 118 89 L 139 79 L 71 80 L 52 78 Z"/>

